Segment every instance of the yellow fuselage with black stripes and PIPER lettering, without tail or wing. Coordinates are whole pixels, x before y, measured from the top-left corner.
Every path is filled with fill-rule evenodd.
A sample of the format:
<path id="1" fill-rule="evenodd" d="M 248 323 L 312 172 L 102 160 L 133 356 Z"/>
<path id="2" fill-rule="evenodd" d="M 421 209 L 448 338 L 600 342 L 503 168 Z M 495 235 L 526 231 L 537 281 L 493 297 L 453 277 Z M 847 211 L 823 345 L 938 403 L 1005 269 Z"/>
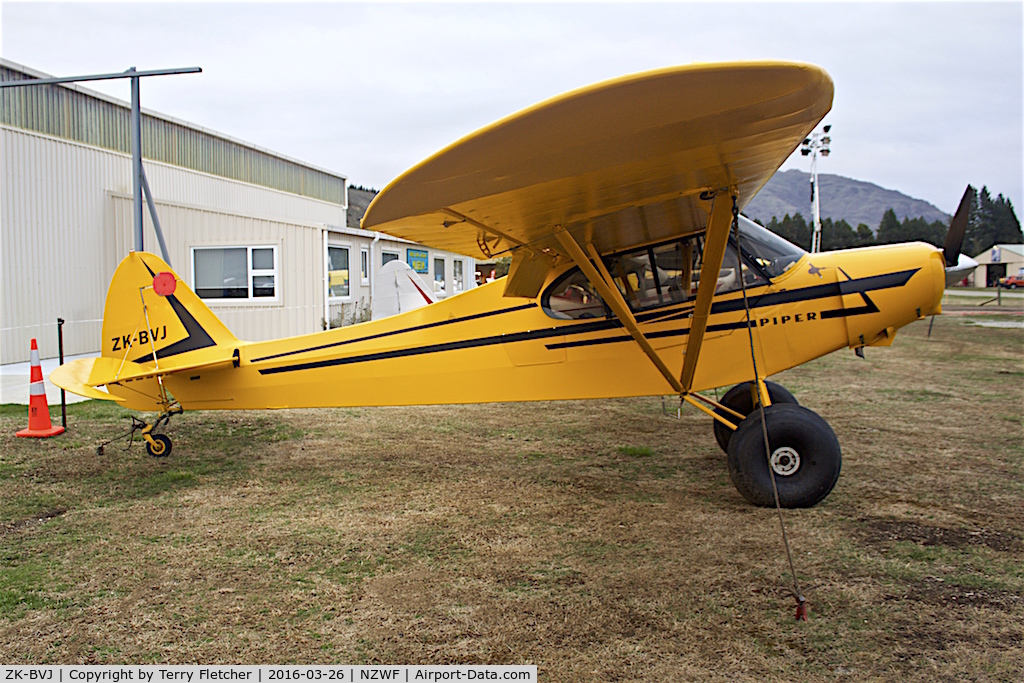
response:
<path id="1" fill-rule="evenodd" d="M 924 244 L 808 254 L 749 289 L 762 376 L 844 347 L 884 345 L 939 311 L 942 254 Z M 564 269 L 553 271 L 551 283 Z M 673 393 L 614 317 L 555 319 L 540 298 L 503 297 L 504 281 L 382 321 L 268 342 L 239 342 L 238 367 L 176 373 L 186 410 L 409 405 Z M 674 373 L 692 301 L 637 315 Z M 741 292 L 716 296 L 694 390 L 751 380 Z M 129 400 L 129 407 L 133 407 Z M 139 405 L 138 408 L 143 408 Z"/>

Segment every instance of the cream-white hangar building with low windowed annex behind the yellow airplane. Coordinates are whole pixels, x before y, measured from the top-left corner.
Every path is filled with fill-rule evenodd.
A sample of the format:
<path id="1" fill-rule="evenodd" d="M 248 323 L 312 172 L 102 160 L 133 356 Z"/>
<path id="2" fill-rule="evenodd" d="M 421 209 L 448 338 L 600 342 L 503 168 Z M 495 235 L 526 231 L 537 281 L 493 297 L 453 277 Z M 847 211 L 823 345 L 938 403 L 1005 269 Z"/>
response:
<path id="1" fill-rule="evenodd" d="M 0 79 L 26 78 L 49 75 L 0 59 Z M 98 352 L 134 245 L 130 111 L 77 84 L 0 89 L 0 365 L 27 360 L 33 337 L 55 356 L 58 317 L 67 355 Z M 348 227 L 341 174 L 144 109 L 141 127 L 171 265 L 240 339 L 365 318 L 392 259 L 439 296 L 474 286 L 472 258 Z"/>

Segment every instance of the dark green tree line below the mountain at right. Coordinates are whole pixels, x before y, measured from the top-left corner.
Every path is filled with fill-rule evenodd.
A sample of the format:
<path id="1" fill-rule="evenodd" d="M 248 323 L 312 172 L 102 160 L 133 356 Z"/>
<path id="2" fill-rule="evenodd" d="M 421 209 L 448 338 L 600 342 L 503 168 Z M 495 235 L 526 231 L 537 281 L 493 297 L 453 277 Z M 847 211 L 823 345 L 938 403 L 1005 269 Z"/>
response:
<path id="1" fill-rule="evenodd" d="M 969 190 L 971 208 L 961 251 L 976 256 L 993 245 L 1024 244 L 1024 232 L 1021 231 L 1021 223 L 1009 198 L 1000 194 L 993 200 L 985 186 L 980 193 L 974 187 L 969 187 Z M 793 216 L 786 214 L 781 220 L 773 216 L 771 221 L 762 224 L 795 245 L 808 250 L 811 248 L 814 225 L 808 223 L 800 213 Z M 927 242 L 942 247 L 948 230 L 949 223 L 941 220 L 928 222 L 924 218 L 904 218 L 900 221 L 892 209 L 883 214 L 878 230 L 871 230 L 866 223 L 860 223 L 854 228 L 843 219 L 834 221 L 831 218 L 822 218 L 821 251 L 899 242 Z"/>

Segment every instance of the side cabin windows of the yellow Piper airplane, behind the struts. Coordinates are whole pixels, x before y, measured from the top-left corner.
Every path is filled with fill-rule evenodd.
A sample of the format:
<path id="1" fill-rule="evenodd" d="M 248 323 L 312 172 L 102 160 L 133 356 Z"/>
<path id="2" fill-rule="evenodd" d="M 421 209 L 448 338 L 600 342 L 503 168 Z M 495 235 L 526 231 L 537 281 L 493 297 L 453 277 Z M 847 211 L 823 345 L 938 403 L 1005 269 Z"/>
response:
<path id="1" fill-rule="evenodd" d="M 744 241 L 744 247 L 746 242 Z M 602 260 L 633 312 L 669 306 L 689 301 L 696 296 L 697 286 L 700 284 L 700 264 L 703 261 L 703 236 L 690 236 L 652 247 L 611 254 Z M 740 274 L 746 287 L 759 287 L 768 282 L 746 259 L 740 265 L 735 245 L 730 238 L 722 268 L 718 272 L 715 293 L 738 290 Z M 552 283 L 542 296 L 541 305 L 548 315 L 562 319 L 610 315 L 604 301 L 579 268 L 568 270 Z"/>

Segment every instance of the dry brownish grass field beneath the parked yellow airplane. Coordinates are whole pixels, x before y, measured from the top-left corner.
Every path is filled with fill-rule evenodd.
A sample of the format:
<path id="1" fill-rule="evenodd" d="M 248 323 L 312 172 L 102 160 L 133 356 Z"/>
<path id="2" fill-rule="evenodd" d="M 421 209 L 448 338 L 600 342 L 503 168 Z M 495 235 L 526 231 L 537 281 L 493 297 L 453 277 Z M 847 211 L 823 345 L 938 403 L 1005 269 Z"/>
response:
<path id="1" fill-rule="evenodd" d="M 947 315 L 776 379 L 833 425 L 833 495 L 735 493 L 659 398 L 186 414 L 174 452 L 14 437 L 0 661 L 536 664 L 544 681 L 1020 681 L 1024 330 Z M 59 415 L 59 414 L 57 414 Z"/>

